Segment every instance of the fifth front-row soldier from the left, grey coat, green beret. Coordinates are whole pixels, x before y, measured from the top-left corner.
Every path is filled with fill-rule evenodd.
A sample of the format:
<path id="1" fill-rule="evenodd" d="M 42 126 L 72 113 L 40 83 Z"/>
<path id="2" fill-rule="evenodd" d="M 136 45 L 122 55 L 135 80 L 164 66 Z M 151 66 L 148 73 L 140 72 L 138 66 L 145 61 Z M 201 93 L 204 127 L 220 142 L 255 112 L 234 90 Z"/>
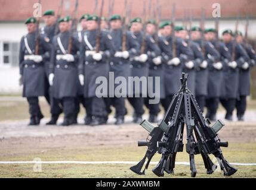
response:
<path id="1" fill-rule="evenodd" d="M 131 20 L 131 31 L 136 36 L 137 42 L 140 45 L 140 55 L 135 56 L 131 61 L 131 76 L 147 78 L 149 76 L 149 59 L 157 58 L 161 55 L 161 52 L 152 36 L 143 34 L 143 31 L 141 31 L 142 29 L 143 24 L 141 18 L 134 18 Z M 139 92 L 135 91 L 135 88 L 130 89 L 132 93 L 129 94 L 128 100 L 134 108 L 134 123 L 140 123 L 144 113 L 144 97 L 147 97 L 147 92 L 143 91 L 142 88 L 142 85 L 140 85 Z"/>

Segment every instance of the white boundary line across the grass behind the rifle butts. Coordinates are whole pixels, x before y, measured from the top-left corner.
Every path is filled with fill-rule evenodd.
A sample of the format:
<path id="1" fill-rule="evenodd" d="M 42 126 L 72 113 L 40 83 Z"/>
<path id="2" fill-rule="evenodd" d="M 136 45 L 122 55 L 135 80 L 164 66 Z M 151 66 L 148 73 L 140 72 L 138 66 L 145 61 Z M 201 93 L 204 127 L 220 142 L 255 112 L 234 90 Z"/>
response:
<path id="1" fill-rule="evenodd" d="M 84 161 L 0 161 L 0 164 L 137 164 L 138 162 L 84 162 Z M 158 162 L 150 162 L 158 164 Z M 189 162 L 175 162 L 175 164 L 189 166 Z M 230 163 L 236 166 L 256 166 L 256 163 Z"/>

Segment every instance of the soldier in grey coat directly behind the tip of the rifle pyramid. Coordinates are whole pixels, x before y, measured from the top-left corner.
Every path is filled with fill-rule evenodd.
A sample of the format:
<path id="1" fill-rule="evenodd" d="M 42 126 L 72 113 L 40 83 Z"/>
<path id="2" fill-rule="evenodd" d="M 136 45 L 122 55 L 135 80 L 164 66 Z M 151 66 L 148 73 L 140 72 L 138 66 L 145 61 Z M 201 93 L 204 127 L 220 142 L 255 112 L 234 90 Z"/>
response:
<path id="1" fill-rule="evenodd" d="M 199 65 L 203 61 L 203 55 L 202 55 L 202 49 L 198 45 L 198 43 L 195 43 L 188 39 L 188 33 L 185 27 L 177 26 L 175 27 L 175 35 L 177 37 L 181 37 L 188 45 L 189 48 L 192 50 L 193 57 L 190 61 L 186 62 L 184 64 L 183 72 L 189 74 L 189 79 L 187 80 L 187 86 L 189 87 L 190 91 L 192 91 L 193 94 L 195 94 L 196 90 L 196 69 L 199 67 Z"/>

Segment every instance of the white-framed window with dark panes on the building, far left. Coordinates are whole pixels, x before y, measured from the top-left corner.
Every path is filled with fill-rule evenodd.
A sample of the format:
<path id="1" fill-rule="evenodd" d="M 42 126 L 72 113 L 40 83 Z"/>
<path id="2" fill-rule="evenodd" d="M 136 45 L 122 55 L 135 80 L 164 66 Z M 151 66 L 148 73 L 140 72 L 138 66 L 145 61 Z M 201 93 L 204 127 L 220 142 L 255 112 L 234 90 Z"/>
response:
<path id="1" fill-rule="evenodd" d="M 0 42 L 0 66 L 18 65 L 18 46 L 17 42 Z"/>

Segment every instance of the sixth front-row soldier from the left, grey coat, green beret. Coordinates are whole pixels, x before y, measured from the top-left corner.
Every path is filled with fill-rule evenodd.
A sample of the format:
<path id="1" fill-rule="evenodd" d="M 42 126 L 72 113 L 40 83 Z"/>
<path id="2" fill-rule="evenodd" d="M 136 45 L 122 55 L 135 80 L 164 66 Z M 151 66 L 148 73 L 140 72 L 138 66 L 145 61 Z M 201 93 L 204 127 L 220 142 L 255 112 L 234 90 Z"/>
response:
<path id="1" fill-rule="evenodd" d="M 165 98 L 164 64 L 170 59 L 172 52 L 171 49 L 169 49 L 167 40 L 165 40 L 164 37 L 159 37 L 156 33 L 155 20 L 151 19 L 147 21 L 146 32 L 155 39 L 161 51 L 161 55 L 149 60 L 149 77 L 153 77 L 153 81 L 148 85 L 149 88 L 152 88 L 149 89 L 149 91 L 155 92 L 156 95 L 159 94 L 158 99 L 161 100 Z M 156 92 L 155 77 L 160 78 L 159 93 Z M 159 103 L 150 104 L 150 99 L 152 99 L 150 96 L 145 99 L 145 105 L 149 108 L 149 122 L 156 123 L 158 122 L 158 113 L 160 112 Z"/>

